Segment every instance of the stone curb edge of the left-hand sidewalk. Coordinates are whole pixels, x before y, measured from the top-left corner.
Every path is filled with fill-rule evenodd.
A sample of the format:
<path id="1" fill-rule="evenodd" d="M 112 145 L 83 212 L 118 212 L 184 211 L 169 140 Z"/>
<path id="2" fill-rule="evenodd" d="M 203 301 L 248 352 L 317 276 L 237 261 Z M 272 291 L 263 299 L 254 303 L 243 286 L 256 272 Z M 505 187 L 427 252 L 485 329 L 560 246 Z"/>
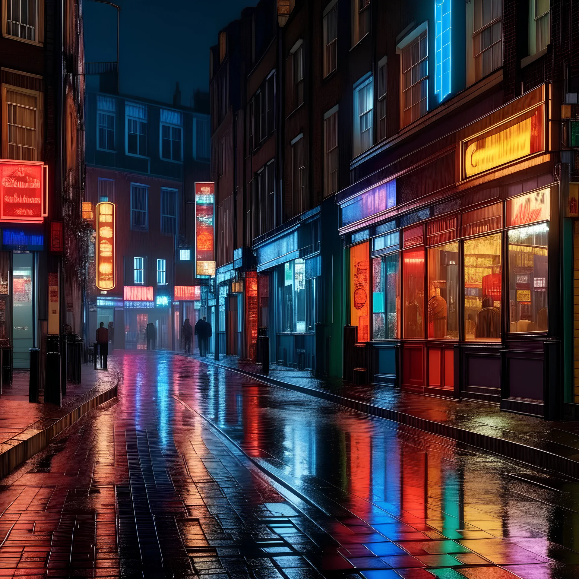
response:
<path id="1" fill-rule="evenodd" d="M 52 418 L 47 415 L 37 420 L 34 424 L 31 424 L 31 426 L 21 433 L 0 444 L 0 478 L 10 474 L 10 472 L 19 467 L 24 461 L 45 449 L 56 435 L 66 430 L 69 426 L 72 426 L 72 424 L 87 412 L 112 400 L 112 398 L 116 398 L 118 387 L 119 377 L 117 376 L 115 386 L 100 393 L 94 393 L 89 400 L 72 408 L 65 413 L 64 416 Z M 74 405 L 74 401 L 71 402 L 70 405 Z M 31 428 L 38 425 L 39 422 L 50 424 L 45 428 Z"/>

